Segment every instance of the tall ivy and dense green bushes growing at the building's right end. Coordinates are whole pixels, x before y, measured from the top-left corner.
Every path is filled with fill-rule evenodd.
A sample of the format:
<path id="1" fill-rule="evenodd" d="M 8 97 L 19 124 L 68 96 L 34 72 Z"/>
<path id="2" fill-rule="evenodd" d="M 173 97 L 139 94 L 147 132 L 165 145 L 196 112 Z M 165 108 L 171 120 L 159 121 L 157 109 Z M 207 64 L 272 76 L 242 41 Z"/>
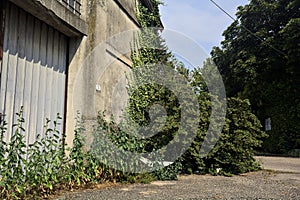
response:
<path id="1" fill-rule="evenodd" d="M 154 0 L 154 2 L 156 1 Z M 260 146 L 261 138 L 265 137 L 265 133 L 260 130 L 260 122 L 251 112 L 250 104 L 246 100 L 237 98 L 228 100 L 230 107 L 227 112 L 229 114 L 220 141 L 217 143 L 216 148 L 209 153 L 207 158 L 200 156 L 200 153 L 203 151 L 201 148 L 204 141 L 208 145 L 214 145 L 214 142 L 217 142 L 219 139 L 219 137 L 215 136 L 219 136 L 221 131 L 217 133 L 217 131 L 212 130 L 212 134 L 206 137 L 208 129 L 211 126 L 219 126 L 220 122 L 224 120 L 222 118 L 223 116 L 212 115 L 213 106 L 222 107 L 221 98 L 223 97 L 221 97 L 222 95 L 220 95 L 220 97 L 217 96 L 218 91 L 221 91 L 222 88 L 219 88 L 218 84 L 215 84 L 215 86 L 208 85 L 204 77 L 205 75 L 206 78 L 210 76 L 209 82 L 212 83 L 215 83 L 220 77 L 215 73 L 214 63 L 210 59 L 205 62 L 204 67 L 201 69 L 197 68 L 193 71 L 186 69 L 183 63 L 180 63 L 172 56 L 160 36 L 160 30 L 148 27 L 153 24 L 159 26 L 159 23 L 156 23 L 159 21 L 159 16 L 155 18 L 152 11 L 144 7 L 140 8 L 140 10 L 142 10 L 143 13 L 140 13 L 138 18 L 141 21 L 140 24 L 143 29 L 136 38 L 136 42 L 132 45 L 131 54 L 133 61 L 132 70 L 137 70 L 135 71 L 136 73 L 133 73 L 133 77 L 129 77 L 129 106 L 125 112 L 124 119 L 132 119 L 138 127 L 142 127 L 141 129 L 143 129 L 143 127 L 150 125 L 153 120 L 153 118 L 150 117 L 150 113 L 154 104 L 159 104 L 164 107 L 166 118 L 163 118 L 161 113 L 158 113 L 158 118 L 155 120 L 156 122 L 160 122 L 163 127 L 158 129 L 159 131 L 151 137 L 137 137 L 138 142 L 135 144 L 139 144 L 142 148 L 137 151 L 135 149 L 135 151 L 139 153 L 153 152 L 158 149 L 163 149 L 163 147 L 169 144 L 176 144 L 171 145 L 170 148 L 166 148 L 166 154 L 162 153 L 163 155 L 158 156 L 158 160 L 174 161 L 173 159 L 169 159 L 172 158 L 172 155 L 168 153 L 170 152 L 170 154 L 172 154 L 173 152 L 182 151 L 182 149 L 179 148 L 188 144 L 187 151 L 182 152 L 174 164 L 154 172 L 155 176 L 159 179 L 176 178 L 181 165 L 183 166 L 182 170 L 188 173 L 194 171 L 214 173 L 216 167 L 221 167 L 223 174 L 238 174 L 258 169 L 258 164 L 253 158 L 253 150 Z M 145 84 L 145 79 L 151 79 L 151 76 L 170 79 L 172 80 L 172 84 L 178 87 L 177 89 L 182 92 L 180 95 L 185 96 L 187 87 L 184 86 L 183 88 L 180 84 L 177 84 L 178 79 L 176 79 L 176 76 L 173 76 L 173 73 L 163 73 L 165 66 L 170 68 L 170 71 L 179 73 L 186 79 L 186 84 L 189 84 L 193 89 L 192 92 L 193 96 L 196 97 L 195 101 L 197 106 L 191 104 L 192 99 L 189 99 L 191 101 L 184 102 L 183 104 L 185 105 L 181 104 L 182 102 L 179 102 L 178 95 L 166 87 L 166 85 L 159 85 L 156 82 Z M 150 70 L 150 73 L 148 73 L 148 69 L 151 68 L 155 68 L 156 71 L 153 72 Z M 213 89 L 214 92 L 209 91 L 211 89 Z M 222 99 L 222 101 L 223 100 L 224 99 Z M 186 137 L 188 135 L 187 132 L 190 131 L 185 130 L 188 126 L 178 131 L 179 127 L 183 127 L 183 124 L 181 124 L 181 120 L 184 118 L 182 116 L 183 106 L 188 107 L 188 113 L 193 118 L 186 121 L 187 124 L 194 125 L 194 127 L 190 127 L 197 131 L 193 138 Z M 193 113 L 194 107 L 200 109 L 200 113 Z M 216 108 L 214 107 L 214 111 L 215 110 Z M 192 121 L 196 123 L 193 124 Z M 129 127 L 129 129 L 130 128 L 132 127 Z M 150 127 L 150 129 L 151 128 L 152 127 Z M 141 136 L 142 134 L 139 132 L 141 129 L 136 129 L 132 132 L 137 132 L 136 134 Z M 180 135 L 180 137 L 176 138 L 176 135 Z M 129 138 L 128 142 L 132 139 L 136 141 L 136 138 L 128 134 L 126 138 Z M 117 143 L 118 141 L 119 140 L 117 140 Z M 126 142 L 121 141 L 119 146 L 124 146 L 124 143 Z M 126 144 L 126 146 L 127 145 L 128 144 Z M 131 148 L 131 150 L 133 149 Z M 153 158 L 151 157 L 151 159 Z M 157 157 L 154 159 L 157 159 Z"/>

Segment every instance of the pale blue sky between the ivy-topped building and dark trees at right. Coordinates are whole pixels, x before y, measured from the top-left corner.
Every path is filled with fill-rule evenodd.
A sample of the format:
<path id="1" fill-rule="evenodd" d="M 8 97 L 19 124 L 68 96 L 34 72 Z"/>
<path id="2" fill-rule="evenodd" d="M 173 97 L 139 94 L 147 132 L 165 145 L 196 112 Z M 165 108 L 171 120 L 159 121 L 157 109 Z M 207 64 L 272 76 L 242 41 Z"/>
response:
<path id="1" fill-rule="evenodd" d="M 213 46 L 220 45 L 223 31 L 232 23 L 232 19 L 210 0 L 163 0 L 163 2 L 165 5 L 160 7 L 160 13 L 166 32 L 176 31 L 190 38 L 203 48 L 206 55 L 209 55 Z M 237 7 L 249 1 L 215 0 L 215 2 L 235 17 Z M 165 39 L 167 44 L 170 43 L 167 35 Z"/>

